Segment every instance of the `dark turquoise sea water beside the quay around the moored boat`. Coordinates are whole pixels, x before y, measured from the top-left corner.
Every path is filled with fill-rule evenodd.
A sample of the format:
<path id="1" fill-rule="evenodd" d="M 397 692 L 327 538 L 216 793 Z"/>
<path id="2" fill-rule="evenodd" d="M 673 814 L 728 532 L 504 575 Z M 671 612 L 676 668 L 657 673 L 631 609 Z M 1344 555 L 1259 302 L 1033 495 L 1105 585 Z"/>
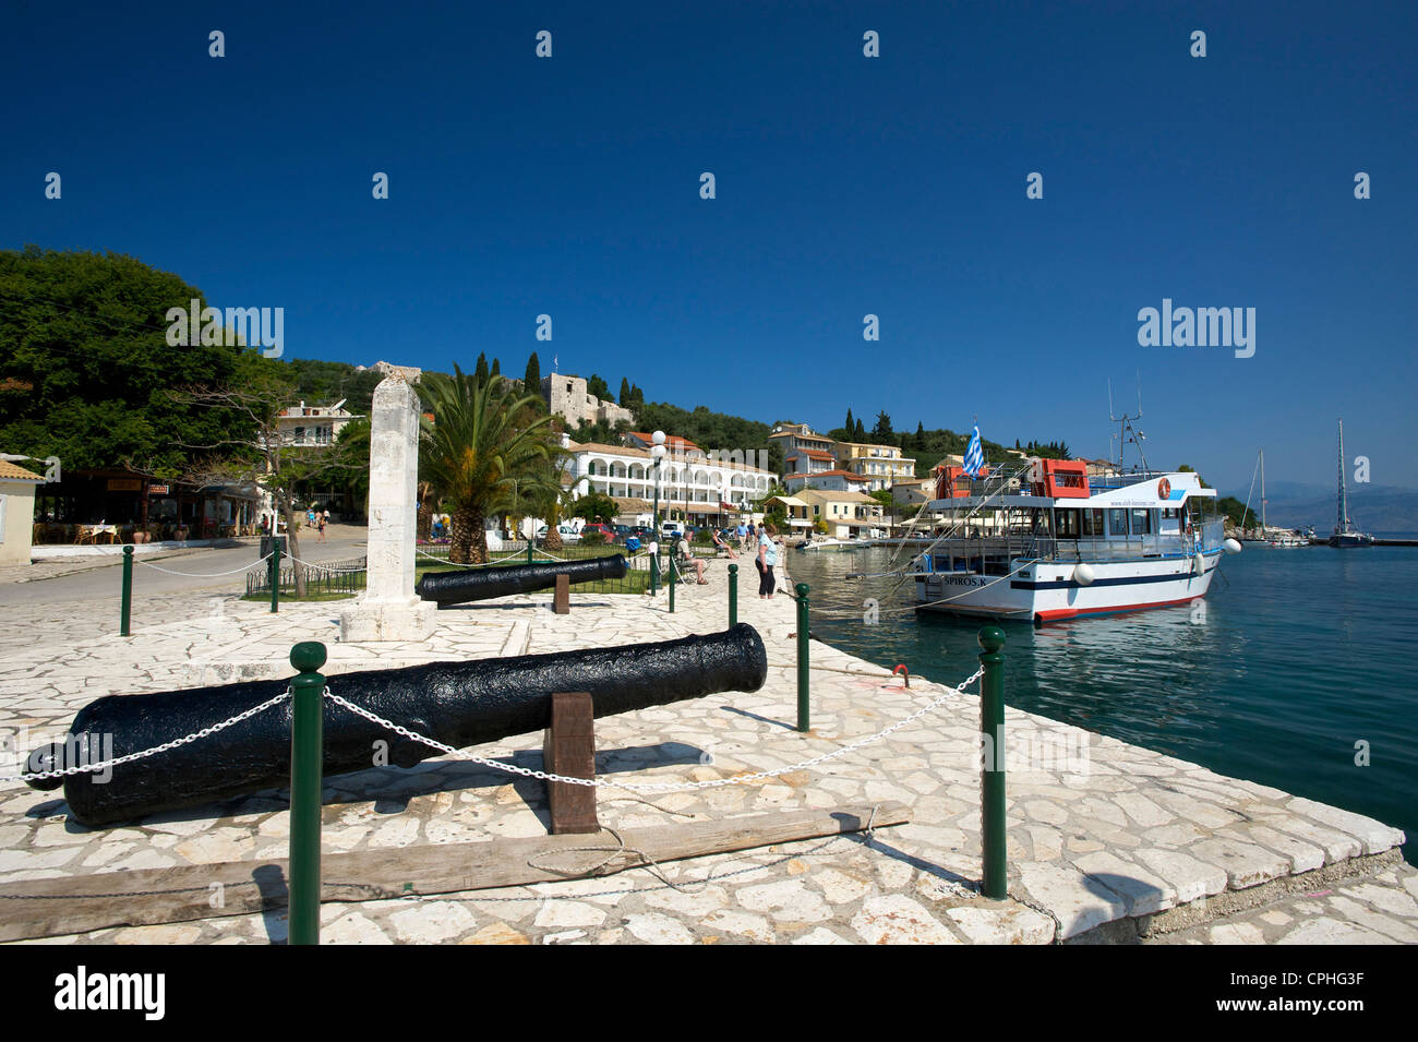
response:
<path id="1" fill-rule="evenodd" d="M 892 668 L 956 683 L 974 672 L 977 620 L 895 612 L 913 595 L 879 571 L 885 549 L 788 551 L 813 634 Z M 868 597 L 879 621 L 861 620 Z M 1003 624 L 1011 706 L 1283 788 L 1418 834 L 1418 547 L 1228 557 L 1195 605 Z M 1356 766 L 1356 743 L 1370 766 Z M 1405 848 L 1409 862 L 1418 844 Z"/>

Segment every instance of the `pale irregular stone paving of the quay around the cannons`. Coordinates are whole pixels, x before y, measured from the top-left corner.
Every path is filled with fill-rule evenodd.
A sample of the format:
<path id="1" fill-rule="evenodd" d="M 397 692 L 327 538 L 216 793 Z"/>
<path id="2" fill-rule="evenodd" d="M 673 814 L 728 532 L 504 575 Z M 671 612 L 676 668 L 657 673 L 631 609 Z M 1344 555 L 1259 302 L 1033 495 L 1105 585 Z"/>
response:
<path id="1" fill-rule="evenodd" d="M 709 780 L 780 768 L 872 734 L 946 688 L 813 644 L 813 732 L 795 720 L 794 605 L 753 595 L 743 559 L 740 618 L 769 649 L 769 682 L 752 695 L 597 722 L 598 768 L 632 781 Z M 442 611 L 427 645 L 336 644 L 339 601 L 282 607 L 234 595 L 135 601 L 133 637 L 116 637 L 116 605 L 0 605 L 0 724 L 27 727 L 27 747 L 62 734 L 101 695 L 244 678 L 289 676 L 295 641 L 330 648 L 326 672 L 637 644 L 726 624 L 725 563 L 710 584 L 665 598 L 573 593 L 570 615 L 549 594 Z M 44 586 L 44 584 L 40 584 Z M 1007 631 L 1008 632 L 1008 631 Z M 1010 648 L 1005 648 L 1010 654 Z M 976 662 L 953 663 L 959 682 Z M 1010 892 L 991 902 L 980 879 L 978 700 L 951 695 L 933 713 L 825 764 L 761 784 L 631 797 L 600 792 L 601 822 L 685 824 L 774 809 L 900 801 L 912 822 L 871 839 L 845 835 L 669 862 L 649 869 L 435 897 L 328 903 L 325 943 L 1409 943 L 1418 941 L 1418 872 L 1402 834 L 1062 723 L 1010 710 Z M 540 767 L 540 734 L 482 747 Z M 1056 754 L 1068 750 L 1071 757 Z M 708 756 L 705 756 L 708 754 Z M 710 758 L 710 763 L 705 760 Z M 13 773 L 13 771 L 6 771 Z M 227 861 L 252 868 L 286 853 L 278 794 L 86 829 L 67 822 L 60 792 L 0 784 L 0 882 Z M 328 852 L 546 834 L 540 783 L 451 758 L 417 768 L 328 778 Z M 600 842 L 588 836 L 588 842 Z M 591 863 L 600 855 L 588 855 Z M 665 882 L 668 880 L 668 883 Z M 268 943 L 284 913 L 113 927 L 40 943 Z"/>

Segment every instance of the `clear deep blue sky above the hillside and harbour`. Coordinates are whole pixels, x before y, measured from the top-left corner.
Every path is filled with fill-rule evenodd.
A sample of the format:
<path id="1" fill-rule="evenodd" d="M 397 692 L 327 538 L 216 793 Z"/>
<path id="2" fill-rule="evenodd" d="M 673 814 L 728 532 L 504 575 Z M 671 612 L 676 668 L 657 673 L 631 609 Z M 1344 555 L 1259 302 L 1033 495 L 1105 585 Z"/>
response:
<path id="1" fill-rule="evenodd" d="M 1343 415 L 1375 485 L 1418 486 L 1418 4 L 94 7 L 7 6 L 0 248 L 284 306 L 289 354 L 537 350 L 683 407 L 1086 455 L 1140 371 L 1154 465 L 1244 493 L 1263 447 L 1329 485 Z M 1139 346 L 1163 298 L 1255 308 L 1255 356 Z"/>

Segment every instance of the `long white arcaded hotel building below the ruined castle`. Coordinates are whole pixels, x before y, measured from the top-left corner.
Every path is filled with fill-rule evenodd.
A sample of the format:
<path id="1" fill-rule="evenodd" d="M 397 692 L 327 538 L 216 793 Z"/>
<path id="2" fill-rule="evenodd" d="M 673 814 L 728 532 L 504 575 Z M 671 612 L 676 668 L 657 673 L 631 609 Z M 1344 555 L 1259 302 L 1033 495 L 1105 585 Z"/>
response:
<path id="1" fill-rule="evenodd" d="M 708 454 L 693 442 L 668 438 L 669 452 L 659 471 L 659 516 L 691 525 L 729 520 L 753 510 L 776 483 L 759 466 Z M 567 475 L 577 498 L 590 492 L 610 496 L 623 523 L 648 523 L 655 499 L 655 458 L 648 449 L 563 439 L 570 451 Z"/>

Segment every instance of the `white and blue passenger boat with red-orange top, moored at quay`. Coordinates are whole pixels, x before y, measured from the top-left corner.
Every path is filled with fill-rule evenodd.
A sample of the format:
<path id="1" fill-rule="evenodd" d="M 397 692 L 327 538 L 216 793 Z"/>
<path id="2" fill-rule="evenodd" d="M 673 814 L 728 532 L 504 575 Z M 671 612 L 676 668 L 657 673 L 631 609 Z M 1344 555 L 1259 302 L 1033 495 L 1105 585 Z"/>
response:
<path id="1" fill-rule="evenodd" d="M 1204 597 L 1239 553 L 1215 489 L 1190 471 L 1088 474 L 1029 459 L 970 478 L 939 468 L 943 532 L 916 560 L 916 607 L 1052 622 Z"/>

